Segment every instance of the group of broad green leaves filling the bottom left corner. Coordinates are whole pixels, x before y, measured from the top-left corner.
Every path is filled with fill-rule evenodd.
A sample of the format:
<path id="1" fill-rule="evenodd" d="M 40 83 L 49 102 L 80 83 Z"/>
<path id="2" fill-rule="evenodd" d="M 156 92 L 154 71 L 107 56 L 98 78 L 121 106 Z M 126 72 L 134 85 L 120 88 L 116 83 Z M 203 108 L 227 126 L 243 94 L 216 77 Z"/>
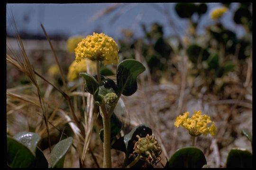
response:
<path id="1" fill-rule="evenodd" d="M 7 165 L 10 168 L 63 168 L 65 154 L 72 145 L 73 138 L 58 142 L 50 155 L 49 162 L 37 146 L 41 137 L 33 132 L 21 132 L 7 136 Z"/>

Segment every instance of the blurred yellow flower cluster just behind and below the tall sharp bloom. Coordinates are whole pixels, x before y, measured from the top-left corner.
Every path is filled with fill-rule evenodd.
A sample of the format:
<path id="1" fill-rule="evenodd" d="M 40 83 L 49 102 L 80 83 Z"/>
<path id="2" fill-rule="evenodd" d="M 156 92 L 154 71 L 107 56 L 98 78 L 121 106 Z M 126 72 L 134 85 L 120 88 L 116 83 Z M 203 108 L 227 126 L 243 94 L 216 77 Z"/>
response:
<path id="1" fill-rule="evenodd" d="M 68 68 L 68 75 L 67 75 L 68 81 L 73 81 L 79 77 L 79 73 L 86 72 L 87 63 L 90 65 L 91 71 L 96 70 L 95 64 L 92 63 L 91 60 L 89 59 L 82 59 L 81 62 L 79 63 L 77 63 L 74 60 Z"/>

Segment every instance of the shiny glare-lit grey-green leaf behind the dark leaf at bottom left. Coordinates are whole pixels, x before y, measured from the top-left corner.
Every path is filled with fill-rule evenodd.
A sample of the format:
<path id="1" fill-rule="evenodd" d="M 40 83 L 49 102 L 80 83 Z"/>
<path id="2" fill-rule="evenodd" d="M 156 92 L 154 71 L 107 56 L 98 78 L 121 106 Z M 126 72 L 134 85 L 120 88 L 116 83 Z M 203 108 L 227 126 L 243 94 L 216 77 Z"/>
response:
<path id="1" fill-rule="evenodd" d="M 37 144 L 41 137 L 33 132 L 20 132 L 13 136 L 15 140 L 27 146 L 27 148 L 36 156 Z"/>

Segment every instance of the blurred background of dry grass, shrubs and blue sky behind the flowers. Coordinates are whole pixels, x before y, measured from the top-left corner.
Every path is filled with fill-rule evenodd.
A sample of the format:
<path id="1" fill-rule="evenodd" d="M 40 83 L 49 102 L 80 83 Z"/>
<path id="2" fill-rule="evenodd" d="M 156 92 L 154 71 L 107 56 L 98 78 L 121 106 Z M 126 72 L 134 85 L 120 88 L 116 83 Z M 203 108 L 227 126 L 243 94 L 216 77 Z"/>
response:
<path id="1" fill-rule="evenodd" d="M 217 135 L 199 136 L 196 144 L 210 167 L 225 167 L 232 147 L 252 151 L 241 133 L 244 128 L 252 132 L 252 3 L 9 3 L 6 11 L 7 53 L 20 54 L 15 38 L 17 26 L 31 65 L 59 88 L 64 88 L 62 78 L 40 24 L 51 39 L 70 92 L 80 92 L 78 84 L 83 82 L 78 71 L 68 78 L 75 59 L 73 49 L 79 38 L 93 32 L 114 38 L 119 46 L 119 61 L 142 62 L 146 71 L 138 78 L 137 92 L 121 97 L 126 109 L 119 119 L 124 134 L 141 123 L 152 127 L 163 147 L 163 164 L 176 149 L 190 145 L 188 133 L 174 127 L 175 118 L 184 111 L 192 114 L 193 110 L 202 110 L 216 124 Z M 75 37 L 78 39 L 72 41 L 71 47 L 69 40 Z M 115 68 L 108 65 L 101 71 L 113 76 Z M 32 109 L 35 104 L 27 104 L 29 97 L 34 97 L 32 101 L 37 98 L 30 82 L 21 70 L 7 64 L 7 126 L 13 135 L 33 131 L 46 138 L 46 130 L 38 126 L 36 109 Z M 56 90 L 39 78 L 38 84 L 50 101 L 49 112 L 58 105 L 70 114 L 66 103 L 59 104 Z M 81 96 L 72 96 L 72 100 L 78 103 L 75 110 L 82 118 Z M 55 127 L 72 136 L 64 118 L 56 119 L 52 119 Z M 101 162 L 98 131 L 102 122 L 95 122 L 90 134 L 94 142 L 89 147 Z M 54 144 L 61 132 L 55 128 L 52 131 Z M 46 142 L 41 145 L 44 153 L 48 152 L 46 146 Z M 120 158 L 124 155 L 115 150 L 112 155 L 113 166 L 121 167 Z M 91 155 L 87 156 L 85 167 L 97 167 Z M 66 160 L 64 167 L 79 167 L 74 149 Z"/>

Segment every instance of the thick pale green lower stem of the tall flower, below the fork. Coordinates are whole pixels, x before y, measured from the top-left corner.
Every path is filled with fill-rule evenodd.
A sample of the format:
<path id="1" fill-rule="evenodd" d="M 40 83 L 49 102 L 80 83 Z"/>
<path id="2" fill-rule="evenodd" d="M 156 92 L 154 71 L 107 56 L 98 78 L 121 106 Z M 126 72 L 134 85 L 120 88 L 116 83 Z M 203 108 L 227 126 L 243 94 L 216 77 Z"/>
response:
<path id="1" fill-rule="evenodd" d="M 104 114 L 103 114 L 104 115 Z M 103 168 L 112 168 L 111 152 L 110 152 L 110 117 L 103 116 L 104 142 L 103 142 Z"/>

